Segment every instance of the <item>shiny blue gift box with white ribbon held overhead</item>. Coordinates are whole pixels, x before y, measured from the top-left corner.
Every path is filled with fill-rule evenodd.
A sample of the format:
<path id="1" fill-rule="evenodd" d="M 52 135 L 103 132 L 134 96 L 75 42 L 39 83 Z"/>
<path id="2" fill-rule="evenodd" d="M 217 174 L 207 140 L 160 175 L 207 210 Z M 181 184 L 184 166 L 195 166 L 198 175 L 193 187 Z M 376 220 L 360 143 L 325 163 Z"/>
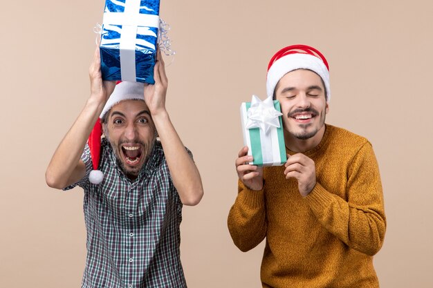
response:
<path id="1" fill-rule="evenodd" d="M 101 30 L 104 80 L 154 84 L 159 0 L 106 0 Z"/>

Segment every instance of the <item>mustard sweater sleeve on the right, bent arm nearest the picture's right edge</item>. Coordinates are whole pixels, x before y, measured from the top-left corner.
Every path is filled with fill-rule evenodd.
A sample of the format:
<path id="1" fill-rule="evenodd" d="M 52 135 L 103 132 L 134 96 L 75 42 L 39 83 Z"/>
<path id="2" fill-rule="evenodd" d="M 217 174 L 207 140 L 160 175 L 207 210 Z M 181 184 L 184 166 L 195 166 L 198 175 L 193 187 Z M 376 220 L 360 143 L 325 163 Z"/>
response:
<path id="1" fill-rule="evenodd" d="M 347 201 L 317 183 L 304 199 L 330 233 L 349 247 L 373 256 L 382 247 L 386 219 L 378 164 L 369 142 L 349 166 L 346 195 Z"/>

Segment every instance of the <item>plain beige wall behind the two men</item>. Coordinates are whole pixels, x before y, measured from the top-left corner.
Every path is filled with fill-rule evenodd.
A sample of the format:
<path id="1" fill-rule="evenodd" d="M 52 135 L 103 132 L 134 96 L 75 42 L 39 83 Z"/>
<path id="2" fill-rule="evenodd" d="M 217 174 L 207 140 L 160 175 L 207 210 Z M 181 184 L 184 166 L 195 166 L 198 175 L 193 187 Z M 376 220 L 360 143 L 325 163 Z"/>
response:
<path id="1" fill-rule="evenodd" d="M 183 209 L 189 287 L 260 286 L 264 244 L 242 253 L 226 227 L 237 193 L 239 105 L 265 96 L 268 60 L 289 44 L 315 46 L 329 60 L 327 122 L 374 145 L 388 220 L 375 258 L 381 287 L 433 287 L 432 2 L 161 2 L 177 51 L 167 108 L 205 187 L 199 206 Z M 3 1 L 0 287 L 80 287 L 83 193 L 49 189 L 44 172 L 89 95 L 103 7 Z"/>

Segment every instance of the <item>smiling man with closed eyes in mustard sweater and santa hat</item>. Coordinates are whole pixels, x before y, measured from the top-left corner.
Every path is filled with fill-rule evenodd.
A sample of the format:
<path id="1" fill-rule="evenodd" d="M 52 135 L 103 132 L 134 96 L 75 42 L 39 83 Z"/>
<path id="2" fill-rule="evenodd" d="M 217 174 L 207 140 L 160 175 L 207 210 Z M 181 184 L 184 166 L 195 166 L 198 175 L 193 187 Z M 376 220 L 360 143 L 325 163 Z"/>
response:
<path id="1" fill-rule="evenodd" d="M 378 287 L 373 256 L 385 236 L 383 191 L 371 144 L 325 124 L 329 67 L 315 48 L 296 45 L 270 60 L 267 93 L 279 100 L 284 166 L 235 164 L 239 193 L 228 215 L 234 244 L 266 238 L 263 287 Z"/>

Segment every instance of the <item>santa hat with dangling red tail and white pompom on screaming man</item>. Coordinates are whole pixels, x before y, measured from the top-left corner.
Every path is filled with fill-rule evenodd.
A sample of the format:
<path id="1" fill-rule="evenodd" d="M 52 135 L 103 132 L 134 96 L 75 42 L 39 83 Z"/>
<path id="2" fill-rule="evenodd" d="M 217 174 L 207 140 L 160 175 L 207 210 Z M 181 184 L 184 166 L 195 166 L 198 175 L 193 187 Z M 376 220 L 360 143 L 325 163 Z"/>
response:
<path id="1" fill-rule="evenodd" d="M 124 100 L 144 100 L 144 92 L 144 83 L 128 81 L 118 82 L 116 88 L 114 88 L 113 93 L 105 104 L 104 109 L 102 109 L 102 113 L 91 131 L 88 141 L 93 164 L 93 170 L 89 175 L 89 181 L 92 184 L 100 184 L 104 179 L 104 173 L 98 170 L 101 151 L 102 118 L 104 118 L 104 115 L 110 111 L 111 107 Z"/>

